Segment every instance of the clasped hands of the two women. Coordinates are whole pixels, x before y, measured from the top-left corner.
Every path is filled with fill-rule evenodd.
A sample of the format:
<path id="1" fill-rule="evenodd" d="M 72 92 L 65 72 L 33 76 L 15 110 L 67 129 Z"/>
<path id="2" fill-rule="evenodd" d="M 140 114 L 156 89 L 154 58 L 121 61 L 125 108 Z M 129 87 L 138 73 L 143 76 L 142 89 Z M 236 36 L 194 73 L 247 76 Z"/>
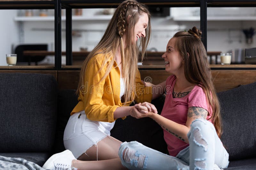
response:
<path id="1" fill-rule="evenodd" d="M 153 114 L 156 113 L 156 107 L 148 102 L 135 104 L 130 111 L 130 115 L 137 119 L 143 117 L 151 117 Z"/>

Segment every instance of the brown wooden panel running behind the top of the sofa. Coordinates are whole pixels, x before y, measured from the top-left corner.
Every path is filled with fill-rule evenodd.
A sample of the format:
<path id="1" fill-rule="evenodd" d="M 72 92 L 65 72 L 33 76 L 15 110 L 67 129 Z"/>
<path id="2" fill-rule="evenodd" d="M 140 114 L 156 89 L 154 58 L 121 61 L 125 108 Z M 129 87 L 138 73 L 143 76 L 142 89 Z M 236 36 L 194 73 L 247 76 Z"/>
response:
<path id="1" fill-rule="evenodd" d="M 79 81 L 79 70 L 0 70 L 0 73 L 37 73 L 51 74 L 57 82 L 58 88 L 76 89 Z M 140 70 L 141 79 L 158 84 L 170 75 L 165 70 Z M 214 85 L 217 92 L 238 87 L 239 84 L 250 84 L 256 81 L 256 70 L 212 70 Z"/>

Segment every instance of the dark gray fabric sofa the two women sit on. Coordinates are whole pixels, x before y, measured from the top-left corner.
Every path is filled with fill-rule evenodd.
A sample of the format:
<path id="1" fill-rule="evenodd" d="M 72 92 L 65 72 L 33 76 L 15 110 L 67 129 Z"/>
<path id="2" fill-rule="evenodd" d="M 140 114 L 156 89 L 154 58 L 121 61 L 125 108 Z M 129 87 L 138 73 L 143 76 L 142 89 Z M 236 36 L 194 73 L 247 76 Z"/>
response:
<path id="1" fill-rule="evenodd" d="M 58 91 L 46 74 L 0 74 L 0 155 L 21 157 L 42 166 L 65 150 L 63 132 L 77 103 L 75 90 Z M 256 83 L 218 93 L 223 121 L 222 142 L 232 169 L 256 169 Z M 152 101 L 161 113 L 164 96 Z M 137 140 L 167 153 L 162 128 L 150 118 L 117 119 L 111 136 Z"/>

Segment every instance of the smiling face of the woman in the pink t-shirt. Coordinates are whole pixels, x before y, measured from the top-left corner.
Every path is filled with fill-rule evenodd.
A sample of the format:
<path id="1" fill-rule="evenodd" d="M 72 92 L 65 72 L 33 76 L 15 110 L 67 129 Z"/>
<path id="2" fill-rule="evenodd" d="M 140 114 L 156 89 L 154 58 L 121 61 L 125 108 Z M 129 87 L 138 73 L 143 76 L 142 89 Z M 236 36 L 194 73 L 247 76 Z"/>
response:
<path id="1" fill-rule="evenodd" d="M 184 64 L 182 64 L 183 59 L 180 53 L 175 49 L 175 41 L 175 38 L 169 40 L 162 58 L 165 61 L 165 70 L 176 75 L 184 70 Z"/>

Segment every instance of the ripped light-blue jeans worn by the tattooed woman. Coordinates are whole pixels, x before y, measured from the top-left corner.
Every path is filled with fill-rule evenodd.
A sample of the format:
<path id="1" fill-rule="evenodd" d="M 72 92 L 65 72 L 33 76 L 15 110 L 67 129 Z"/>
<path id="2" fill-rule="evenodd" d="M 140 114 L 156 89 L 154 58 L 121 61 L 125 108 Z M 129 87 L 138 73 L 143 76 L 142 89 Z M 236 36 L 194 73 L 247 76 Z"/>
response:
<path id="1" fill-rule="evenodd" d="M 192 122 L 188 132 L 189 146 L 176 157 L 148 148 L 137 141 L 124 142 L 118 155 L 128 169 L 145 170 L 213 170 L 228 167 L 228 152 L 213 124 L 204 119 Z"/>

